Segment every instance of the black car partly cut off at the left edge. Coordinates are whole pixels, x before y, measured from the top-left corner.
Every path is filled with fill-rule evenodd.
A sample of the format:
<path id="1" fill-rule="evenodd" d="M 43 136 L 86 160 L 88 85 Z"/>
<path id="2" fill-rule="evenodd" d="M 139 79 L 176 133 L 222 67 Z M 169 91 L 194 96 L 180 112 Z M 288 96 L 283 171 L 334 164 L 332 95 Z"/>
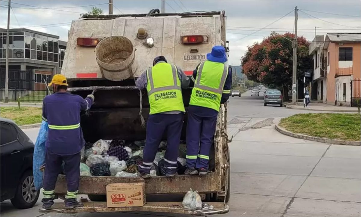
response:
<path id="1" fill-rule="evenodd" d="M 1 201 L 27 209 L 38 201 L 32 174 L 34 143 L 12 120 L 1 118 Z"/>

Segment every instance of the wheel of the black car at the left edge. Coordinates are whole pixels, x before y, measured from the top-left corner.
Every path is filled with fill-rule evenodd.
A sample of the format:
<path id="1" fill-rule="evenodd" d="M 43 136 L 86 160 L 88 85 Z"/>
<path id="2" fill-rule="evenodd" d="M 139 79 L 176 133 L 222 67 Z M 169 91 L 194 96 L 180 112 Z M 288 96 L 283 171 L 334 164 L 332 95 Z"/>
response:
<path id="1" fill-rule="evenodd" d="M 40 191 L 35 191 L 34 176 L 32 170 L 26 170 L 22 175 L 16 193 L 11 203 L 18 209 L 29 209 L 34 207 L 38 201 Z"/>

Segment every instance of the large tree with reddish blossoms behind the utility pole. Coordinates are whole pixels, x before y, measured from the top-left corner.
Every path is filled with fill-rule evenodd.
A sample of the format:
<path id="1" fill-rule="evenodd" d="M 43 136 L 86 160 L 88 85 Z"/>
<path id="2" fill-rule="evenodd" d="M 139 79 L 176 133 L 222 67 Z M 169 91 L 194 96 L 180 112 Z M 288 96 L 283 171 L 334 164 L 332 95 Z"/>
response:
<path id="1" fill-rule="evenodd" d="M 291 33 L 283 36 L 290 40 L 294 37 Z M 300 82 L 303 82 L 304 72 L 312 70 L 308 46 L 309 42 L 304 37 L 297 37 L 297 78 Z M 241 59 L 242 69 L 248 79 L 270 88 L 279 88 L 288 100 L 287 93 L 292 86 L 292 54 L 292 42 L 279 35 L 270 35 L 261 43 L 248 47 Z"/>

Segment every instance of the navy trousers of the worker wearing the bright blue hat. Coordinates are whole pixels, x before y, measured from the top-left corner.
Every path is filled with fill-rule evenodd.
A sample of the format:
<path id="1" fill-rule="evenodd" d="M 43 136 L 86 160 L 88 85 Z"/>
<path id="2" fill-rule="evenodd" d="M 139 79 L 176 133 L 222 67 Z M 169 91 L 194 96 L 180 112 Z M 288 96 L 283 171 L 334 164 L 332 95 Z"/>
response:
<path id="1" fill-rule="evenodd" d="M 193 109 L 188 110 L 186 159 L 189 168 L 208 169 L 216 124 L 217 116 L 200 116 Z"/>

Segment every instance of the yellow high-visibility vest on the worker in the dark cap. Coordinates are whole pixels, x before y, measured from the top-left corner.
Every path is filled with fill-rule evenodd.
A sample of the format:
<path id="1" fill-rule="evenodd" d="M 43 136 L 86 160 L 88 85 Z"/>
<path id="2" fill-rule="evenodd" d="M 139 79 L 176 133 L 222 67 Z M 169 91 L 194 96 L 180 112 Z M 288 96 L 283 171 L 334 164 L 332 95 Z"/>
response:
<path id="1" fill-rule="evenodd" d="M 147 70 L 149 114 L 161 112 L 185 112 L 181 81 L 175 65 L 160 62 Z"/>

